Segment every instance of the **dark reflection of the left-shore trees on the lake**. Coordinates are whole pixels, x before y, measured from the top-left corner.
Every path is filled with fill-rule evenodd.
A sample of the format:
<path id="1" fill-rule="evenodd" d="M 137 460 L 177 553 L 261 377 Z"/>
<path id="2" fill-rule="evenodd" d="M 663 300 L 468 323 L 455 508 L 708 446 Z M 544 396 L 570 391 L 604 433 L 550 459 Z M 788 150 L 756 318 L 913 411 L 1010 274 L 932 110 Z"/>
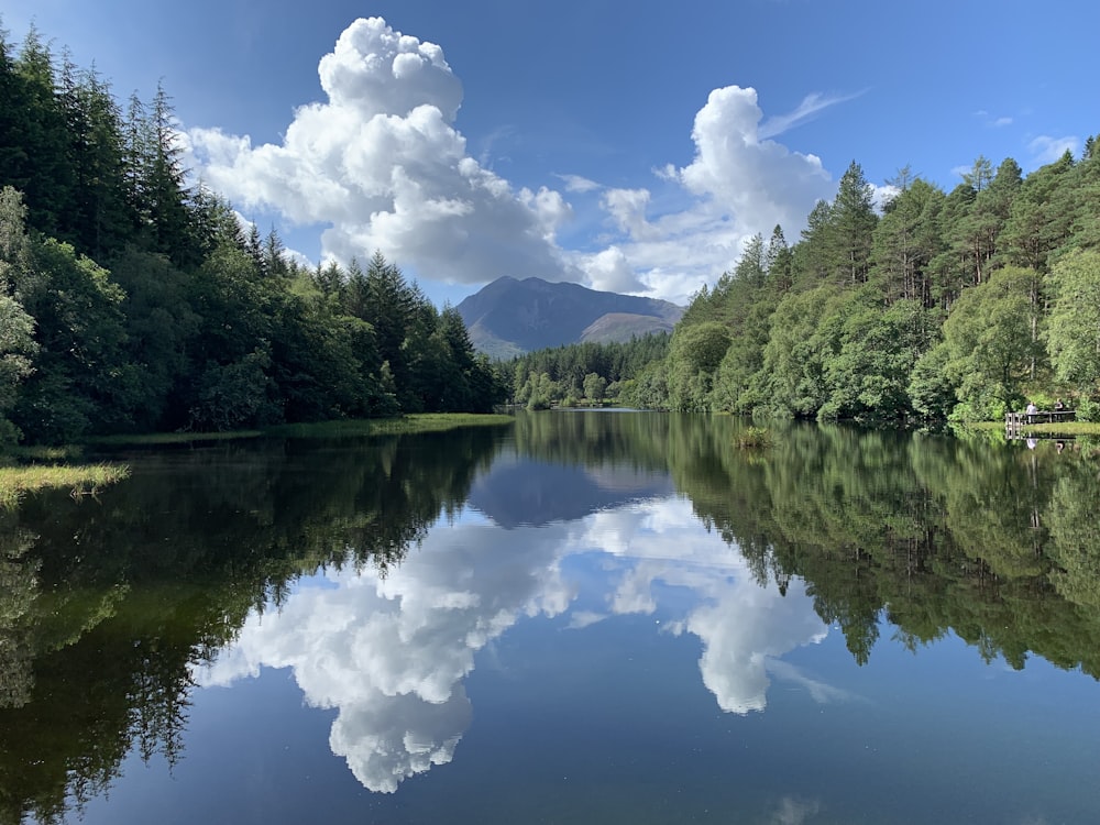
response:
<path id="1" fill-rule="evenodd" d="M 129 454 L 101 503 L 0 522 L 0 822 L 58 822 L 134 747 L 180 756 L 195 668 L 318 568 L 397 564 L 453 515 L 497 436 Z"/>

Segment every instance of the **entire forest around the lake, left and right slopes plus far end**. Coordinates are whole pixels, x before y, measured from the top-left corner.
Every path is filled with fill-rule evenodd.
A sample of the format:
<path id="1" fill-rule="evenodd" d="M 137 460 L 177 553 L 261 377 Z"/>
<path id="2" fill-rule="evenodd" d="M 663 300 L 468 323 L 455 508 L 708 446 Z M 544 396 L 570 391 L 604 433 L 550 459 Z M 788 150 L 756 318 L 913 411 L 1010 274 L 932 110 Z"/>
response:
<path id="1" fill-rule="evenodd" d="M 949 193 L 904 167 L 878 206 L 853 162 L 796 242 L 751 238 L 671 340 L 494 369 L 380 254 L 305 266 L 191 185 L 163 88 L 121 105 L 32 31 L 0 34 L 0 443 L 508 396 L 888 425 L 1060 397 L 1100 418 L 1092 138 L 1026 176 L 979 156 Z"/>

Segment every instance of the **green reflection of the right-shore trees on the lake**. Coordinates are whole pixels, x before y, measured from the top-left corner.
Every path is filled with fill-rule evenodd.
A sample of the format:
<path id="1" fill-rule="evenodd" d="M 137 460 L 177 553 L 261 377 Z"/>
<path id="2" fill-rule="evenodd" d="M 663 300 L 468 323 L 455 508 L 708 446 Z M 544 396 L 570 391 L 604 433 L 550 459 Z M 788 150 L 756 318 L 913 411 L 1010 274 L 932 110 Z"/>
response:
<path id="1" fill-rule="evenodd" d="M 695 457 L 673 465 L 678 486 L 758 578 L 804 579 L 857 661 L 884 617 L 911 648 L 950 630 L 987 660 L 1022 668 L 1036 653 L 1100 676 L 1093 461 L 1054 444 L 795 426 L 747 454 L 701 420 L 682 426 L 708 447 L 669 450 Z"/>

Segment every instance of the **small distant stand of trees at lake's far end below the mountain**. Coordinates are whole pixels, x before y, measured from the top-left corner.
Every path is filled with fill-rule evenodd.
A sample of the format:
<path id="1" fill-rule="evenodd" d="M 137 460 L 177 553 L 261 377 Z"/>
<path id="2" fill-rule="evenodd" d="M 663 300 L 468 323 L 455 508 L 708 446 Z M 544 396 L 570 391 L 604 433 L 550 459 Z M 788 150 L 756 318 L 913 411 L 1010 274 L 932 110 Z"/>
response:
<path id="1" fill-rule="evenodd" d="M 582 399 L 600 404 L 617 398 L 626 382 L 663 359 L 669 338 L 657 332 L 625 342 L 565 344 L 517 355 L 498 372 L 510 380 L 513 403 L 530 409 L 559 402 L 575 406 Z"/>

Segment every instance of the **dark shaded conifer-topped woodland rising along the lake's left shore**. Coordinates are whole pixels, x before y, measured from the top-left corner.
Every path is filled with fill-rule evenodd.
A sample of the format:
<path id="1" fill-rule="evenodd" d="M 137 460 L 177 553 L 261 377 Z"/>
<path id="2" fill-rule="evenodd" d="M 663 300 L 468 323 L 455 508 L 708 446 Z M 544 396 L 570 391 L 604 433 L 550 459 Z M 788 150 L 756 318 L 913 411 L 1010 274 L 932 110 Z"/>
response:
<path id="1" fill-rule="evenodd" d="M 123 108 L 0 32 L 0 444 L 503 399 L 455 310 L 378 254 L 298 264 L 182 155 L 163 88 Z"/>

